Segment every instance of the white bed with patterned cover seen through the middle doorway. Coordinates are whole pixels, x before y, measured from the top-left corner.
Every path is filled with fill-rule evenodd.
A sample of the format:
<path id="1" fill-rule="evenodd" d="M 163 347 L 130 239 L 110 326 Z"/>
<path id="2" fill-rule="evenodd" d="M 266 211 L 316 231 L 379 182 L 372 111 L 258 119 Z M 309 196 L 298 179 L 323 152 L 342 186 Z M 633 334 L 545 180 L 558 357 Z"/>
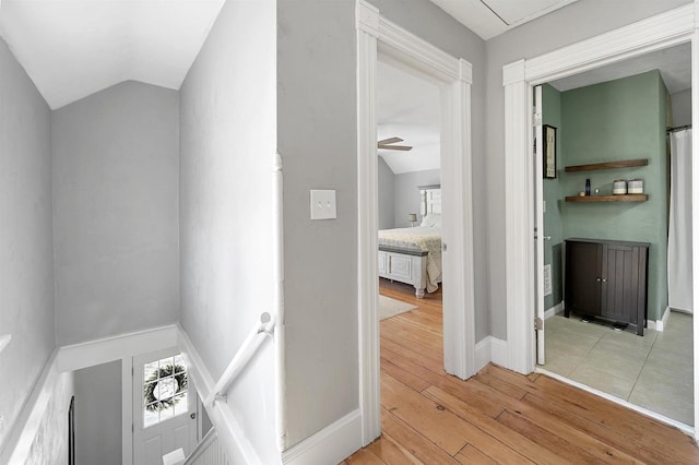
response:
<path id="1" fill-rule="evenodd" d="M 434 293 L 441 283 L 441 189 L 420 190 L 418 227 L 379 230 L 379 276 L 415 287 L 418 299 Z"/>

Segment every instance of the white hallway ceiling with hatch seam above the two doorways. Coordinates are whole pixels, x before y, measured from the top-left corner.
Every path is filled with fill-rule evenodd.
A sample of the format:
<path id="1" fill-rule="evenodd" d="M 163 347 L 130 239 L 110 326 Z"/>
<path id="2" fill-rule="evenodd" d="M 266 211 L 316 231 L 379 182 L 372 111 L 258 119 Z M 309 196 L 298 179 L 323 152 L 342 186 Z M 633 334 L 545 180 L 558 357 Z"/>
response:
<path id="1" fill-rule="evenodd" d="M 578 0 L 431 0 L 487 40 Z"/>

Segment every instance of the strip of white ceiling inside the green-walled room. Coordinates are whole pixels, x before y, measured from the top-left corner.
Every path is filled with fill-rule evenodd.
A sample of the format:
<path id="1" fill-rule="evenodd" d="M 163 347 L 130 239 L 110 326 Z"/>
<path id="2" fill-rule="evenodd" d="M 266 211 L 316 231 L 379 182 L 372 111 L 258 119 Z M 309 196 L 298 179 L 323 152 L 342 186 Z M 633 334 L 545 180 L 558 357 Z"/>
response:
<path id="1" fill-rule="evenodd" d="M 564 92 L 651 70 L 660 70 L 665 86 L 671 94 L 691 87 L 690 43 L 564 78 L 552 82 L 550 85 Z"/>

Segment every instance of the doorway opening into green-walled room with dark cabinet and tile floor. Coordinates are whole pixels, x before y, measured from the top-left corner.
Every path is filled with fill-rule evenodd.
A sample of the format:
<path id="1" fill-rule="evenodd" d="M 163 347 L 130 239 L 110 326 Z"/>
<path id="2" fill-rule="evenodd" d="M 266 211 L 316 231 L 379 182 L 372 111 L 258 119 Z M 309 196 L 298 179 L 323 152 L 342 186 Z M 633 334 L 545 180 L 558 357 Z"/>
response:
<path id="1" fill-rule="evenodd" d="M 687 43 L 541 86 L 543 127 L 559 138 L 557 176 L 536 179 L 550 267 L 546 360 L 537 358 L 546 371 L 694 426 L 691 288 L 677 286 L 680 301 L 668 289 L 691 279 L 672 274 L 691 270 L 691 242 L 685 229 L 688 247 L 668 254 L 670 198 L 691 184 L 671 176 L 667 144 L 675 119 L 691 122 L 679 105 L 690 62 Z"/>

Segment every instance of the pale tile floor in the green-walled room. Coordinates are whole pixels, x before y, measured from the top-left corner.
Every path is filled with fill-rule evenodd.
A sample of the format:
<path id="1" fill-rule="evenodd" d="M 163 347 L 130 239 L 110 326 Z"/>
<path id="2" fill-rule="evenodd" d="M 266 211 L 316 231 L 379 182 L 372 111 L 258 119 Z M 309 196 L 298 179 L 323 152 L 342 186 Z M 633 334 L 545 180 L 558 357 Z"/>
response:
<path id="1" fill-rule="evenodd" d="M 546 320 L 542 368 L 690 426 L 692 367 L 690 314 L 672 312 L 665 331 L 644 336 L 572 314 Z"/>

